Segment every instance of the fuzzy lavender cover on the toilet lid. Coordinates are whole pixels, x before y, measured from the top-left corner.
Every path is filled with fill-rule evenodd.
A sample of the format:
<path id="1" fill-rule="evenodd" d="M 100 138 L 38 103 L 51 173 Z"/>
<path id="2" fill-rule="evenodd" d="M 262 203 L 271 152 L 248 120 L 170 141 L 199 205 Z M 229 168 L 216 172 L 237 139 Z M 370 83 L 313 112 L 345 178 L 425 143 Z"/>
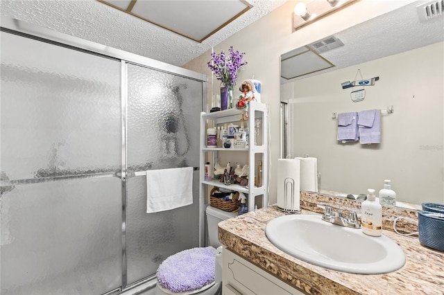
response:
<path id="1" fill-rule="evenodd" d="M 193 248 L 165 259 L 157 269 L 157 282 L 172 292 L 187 292 L 214 282 L 216 249 Z"/>

